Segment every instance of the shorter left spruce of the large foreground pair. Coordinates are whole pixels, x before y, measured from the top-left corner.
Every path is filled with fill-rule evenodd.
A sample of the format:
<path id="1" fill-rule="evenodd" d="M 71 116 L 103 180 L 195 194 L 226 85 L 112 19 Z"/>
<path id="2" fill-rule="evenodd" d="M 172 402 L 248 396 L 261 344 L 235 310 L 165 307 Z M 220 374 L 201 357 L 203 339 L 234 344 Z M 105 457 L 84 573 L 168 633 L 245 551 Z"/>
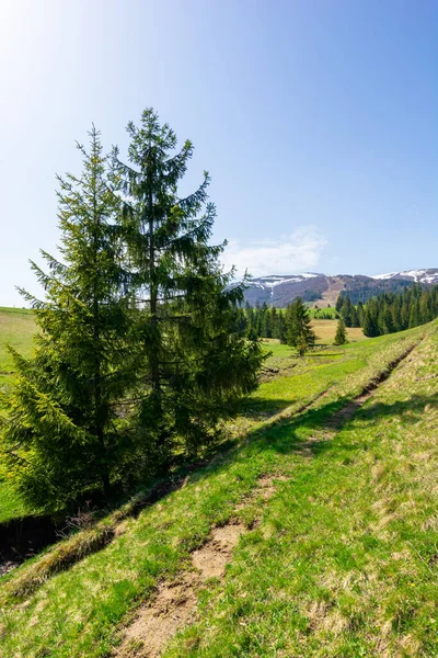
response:
<path id="1" fill-rule="evenodd" d="M 77 178 L 59 178 L 61 261 L 42 252 L 36 353 L 12 351 L 18 379 L 2 398 L 2 452 L 12 484 L 34 510 L 64 509 L 84 490 L 110 492 L 131 456 L 116 404 L 129 386 L 128 295 L 105 157 L 93 127 Z"/>

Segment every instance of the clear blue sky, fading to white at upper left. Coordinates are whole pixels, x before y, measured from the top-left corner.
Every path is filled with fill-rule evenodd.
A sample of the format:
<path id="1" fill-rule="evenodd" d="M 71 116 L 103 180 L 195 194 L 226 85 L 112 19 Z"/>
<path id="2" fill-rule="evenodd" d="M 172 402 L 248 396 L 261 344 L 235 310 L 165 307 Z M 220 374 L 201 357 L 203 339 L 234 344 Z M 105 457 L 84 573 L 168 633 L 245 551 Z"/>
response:
<path id="1" fill-rule="evenodd" d="M 438 266 L 437 0 L 2 0 L 0 305 L 58 241 L 55 173 L 153 106 L 254 275 Z"/>

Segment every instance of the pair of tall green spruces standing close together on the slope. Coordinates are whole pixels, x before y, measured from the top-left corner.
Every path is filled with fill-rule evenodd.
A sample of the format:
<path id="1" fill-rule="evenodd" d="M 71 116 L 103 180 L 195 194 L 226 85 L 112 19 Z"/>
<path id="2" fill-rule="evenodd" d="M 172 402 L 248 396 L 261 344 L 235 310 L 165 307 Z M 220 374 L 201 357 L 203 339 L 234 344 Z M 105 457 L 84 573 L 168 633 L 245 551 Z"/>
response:
<path id="1" fill-rule="evenodd" d="M 148 109 L 127 126 L 127 160 L 93 127 L 79 175 L 58 178 L 59 258 L 32 263 L 43 298 L 35 353 L 11 349 L 0 458 L 32 510 L 55 513 L 90 492 L 128 490 L 175 454 L 214 443 L 257 383 L 254 333 L 239 326 L 243 285 L 210 246 L 209 175 L 181 196 L 193 155 Z"/>

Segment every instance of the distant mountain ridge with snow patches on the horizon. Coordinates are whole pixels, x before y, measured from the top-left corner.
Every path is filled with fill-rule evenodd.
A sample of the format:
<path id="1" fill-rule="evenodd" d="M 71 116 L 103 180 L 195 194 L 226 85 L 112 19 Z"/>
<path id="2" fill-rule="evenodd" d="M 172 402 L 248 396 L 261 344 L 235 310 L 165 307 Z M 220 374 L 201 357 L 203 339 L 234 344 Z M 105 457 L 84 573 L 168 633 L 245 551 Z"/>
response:
<path id="1" fill-rule="evenodd" d="M 252 306 L 256 303 L 284 307 L 300 296 L 312 306 L 334 306 L 342 292 L 347 292 L 351 302 L 367 302 L 370 297 L 384 292 L 400 292 L 413 282 L 424 285 L 438 284 L 438 268 L 406 270 L 366 276 L 362 274 L 321 274 L 303 272 L 258 276 L 251 280 L 245 291 L 245 300 Z"/>

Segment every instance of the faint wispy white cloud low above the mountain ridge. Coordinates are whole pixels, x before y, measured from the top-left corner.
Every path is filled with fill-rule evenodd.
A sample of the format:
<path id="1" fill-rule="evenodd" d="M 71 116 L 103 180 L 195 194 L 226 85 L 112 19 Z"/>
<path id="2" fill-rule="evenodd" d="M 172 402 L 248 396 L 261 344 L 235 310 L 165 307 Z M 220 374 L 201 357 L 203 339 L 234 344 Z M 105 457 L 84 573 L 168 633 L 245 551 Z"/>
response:
<path id="1" fill-rule="evenodd" d="M 315 227 L 302 226 L 279 240 L 255 241 L 245 246 L 230 240 L 221 260 L 226 270 L 235 265 L 239 276 L 245 270 L 253 276 L 295 274 L 315 271 L 326 243 Z"/>

